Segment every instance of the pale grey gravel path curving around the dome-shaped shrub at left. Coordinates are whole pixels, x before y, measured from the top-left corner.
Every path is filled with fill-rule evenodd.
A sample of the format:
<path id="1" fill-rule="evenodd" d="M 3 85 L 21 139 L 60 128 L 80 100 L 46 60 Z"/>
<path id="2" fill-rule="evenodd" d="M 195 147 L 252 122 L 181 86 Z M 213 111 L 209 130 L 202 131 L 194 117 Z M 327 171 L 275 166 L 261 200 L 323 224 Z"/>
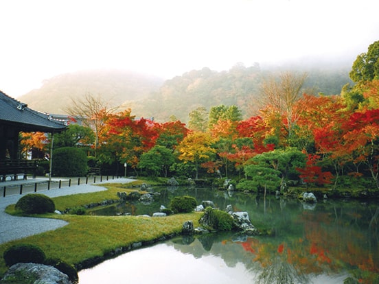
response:
<path id="1" fill-rule="evenodd" d="M 117 183 L 127 183 L 133 180 L 128 178 L 119 178 Z M 49 191 L 38 191 L 51 198 L 56 196 L 68 196 L 76 193 L 87 193 L 106 190 L 105 187 L 97 185 L 101 183 L 111 183 L 111 181 L 96 182 L 96 185 L 76 185 L 71 187 L 62 187 L 61 189 L 50 189 Z M 47 230 L 56 230 L 68 223 L 63 220 L 36 218 L 36 217 L 16 217 L 5 213 L 5 208 L 10 204 L 15 204 L 23 195 L 12 195 L 0 197 L 0 244 L 22 239 L 31 235 L 46 232 Z"/>

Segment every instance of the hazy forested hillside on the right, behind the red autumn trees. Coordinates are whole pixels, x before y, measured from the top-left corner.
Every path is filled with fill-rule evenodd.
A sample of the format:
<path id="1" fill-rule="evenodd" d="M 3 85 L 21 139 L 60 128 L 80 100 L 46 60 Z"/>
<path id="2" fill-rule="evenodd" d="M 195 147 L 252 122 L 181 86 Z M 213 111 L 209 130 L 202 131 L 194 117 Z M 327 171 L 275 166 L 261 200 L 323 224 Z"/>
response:
<path id="1" fill-rule="evenodd" d="M 350 67 L 297 68 L 294 73 L 307 73 L 303 91 L 317 95 L 336 95 L 341 88 L 352 82 Z M 260 85 L 268 76 L 276 76 L 282 69 L 261 69 L 259 64 L 244 67 L 236 64 L 229 71 L 211 71 L 209 68 L 193 70 L 166 80 L 160 91 L 146 99 L 130 102 L 137 117 L 154 117 L 157 121 L 172 118 L 188 121 L 188 114 L 200 106 L 209 110 L 212 106 L 235 105 L 243 117 L 255 115 L 260 108 Z M 174 116 L 174 117 L 172 117 Z"/>

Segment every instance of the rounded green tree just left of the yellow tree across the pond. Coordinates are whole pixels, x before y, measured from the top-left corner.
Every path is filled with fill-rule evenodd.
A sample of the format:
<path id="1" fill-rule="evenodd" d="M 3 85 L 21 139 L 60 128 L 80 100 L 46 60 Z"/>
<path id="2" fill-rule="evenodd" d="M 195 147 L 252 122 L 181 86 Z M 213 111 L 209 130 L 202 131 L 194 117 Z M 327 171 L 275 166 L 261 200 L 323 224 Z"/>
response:
<path id="1" fill-rule="evenodd" d="M 150 171 L 153 176 L 158 176 L 163 171 L 164 176 L 167 177 L 168 169 L 173 163 L 174 154 L 172 154 L 172 150 L 155 145 L 141 155 L 138 167 Z"/>

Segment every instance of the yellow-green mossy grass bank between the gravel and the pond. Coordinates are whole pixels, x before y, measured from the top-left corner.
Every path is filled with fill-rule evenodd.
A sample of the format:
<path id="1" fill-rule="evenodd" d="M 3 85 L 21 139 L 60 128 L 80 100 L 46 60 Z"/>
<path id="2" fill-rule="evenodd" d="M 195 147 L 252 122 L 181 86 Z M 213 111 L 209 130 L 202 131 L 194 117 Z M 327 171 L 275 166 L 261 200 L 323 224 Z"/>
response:
<path id="1" fill-rule="evenodd" d="M 82 193 L 73 196 L 53 198 L 58 210 L 81 206 L 102 200 L 117 199 L 117 191 L 128 191 L 120 185 L 106 185 L 108 190 L 95 193 Z M 124 187 L 124 185 L 123 185 Z M 132 189 L 130 189 L 132 190 Z M 16 213 L 14 207 L 7 209 Z M 47 214 L 69 222 L 67 226 L 39 235 L 0 245 L 0 255 L 14 244 L 34 244 L 42 248 L 47 257 L 60 258 L 67 263 L 80 265 L 88 259 L 104 259 L 115 253 L 127 251 L 133 244 L 151 244 L 152 241 L 172 234 L 180 233 L 183 222 L 192 220 L 198 226 L 199 213 L 171 215 L 167 217 L 135 216 L 78 216 Z M 8 268 L 3 257 L 0 258 L 0 276 Z"/>

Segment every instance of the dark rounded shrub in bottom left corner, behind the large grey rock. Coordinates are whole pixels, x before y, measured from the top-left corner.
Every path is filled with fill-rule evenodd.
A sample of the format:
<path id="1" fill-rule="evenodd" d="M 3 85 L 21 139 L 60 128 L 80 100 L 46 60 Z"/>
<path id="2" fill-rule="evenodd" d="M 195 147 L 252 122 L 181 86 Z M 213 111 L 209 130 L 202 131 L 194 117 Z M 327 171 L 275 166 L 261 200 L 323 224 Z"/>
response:
<path id="1" fill-rule="evenodd" d="M 45 261 L 45 252 L 32 244 L 17 244 L 5 250 L 3 258 L 8 267 L 19 262 L 43 263 Z"/>

